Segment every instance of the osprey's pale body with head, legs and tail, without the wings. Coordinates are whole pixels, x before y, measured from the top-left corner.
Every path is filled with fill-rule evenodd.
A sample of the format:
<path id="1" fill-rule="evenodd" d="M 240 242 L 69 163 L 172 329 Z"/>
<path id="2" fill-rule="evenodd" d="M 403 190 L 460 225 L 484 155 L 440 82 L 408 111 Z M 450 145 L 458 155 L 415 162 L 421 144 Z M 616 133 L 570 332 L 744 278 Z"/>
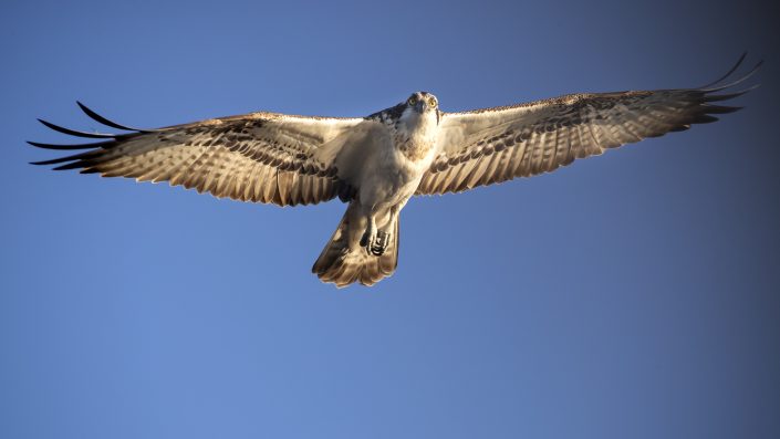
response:
<path id="1" fill-rule="evenodd" d="M 419 187 L 436 155 L 438 102 L 426 92 L 368 116 L 377 125 L 365 145 L 363 164 L 351 184 L 357 188 L 336 233 L 312 269 L 321 279 L 345 285 L 373 284 L 398 263 L 398 213 Z M 350 168 L 350 157 L 344 157 Z M 339 159 L 336 159 L 336 163 Z"/>

